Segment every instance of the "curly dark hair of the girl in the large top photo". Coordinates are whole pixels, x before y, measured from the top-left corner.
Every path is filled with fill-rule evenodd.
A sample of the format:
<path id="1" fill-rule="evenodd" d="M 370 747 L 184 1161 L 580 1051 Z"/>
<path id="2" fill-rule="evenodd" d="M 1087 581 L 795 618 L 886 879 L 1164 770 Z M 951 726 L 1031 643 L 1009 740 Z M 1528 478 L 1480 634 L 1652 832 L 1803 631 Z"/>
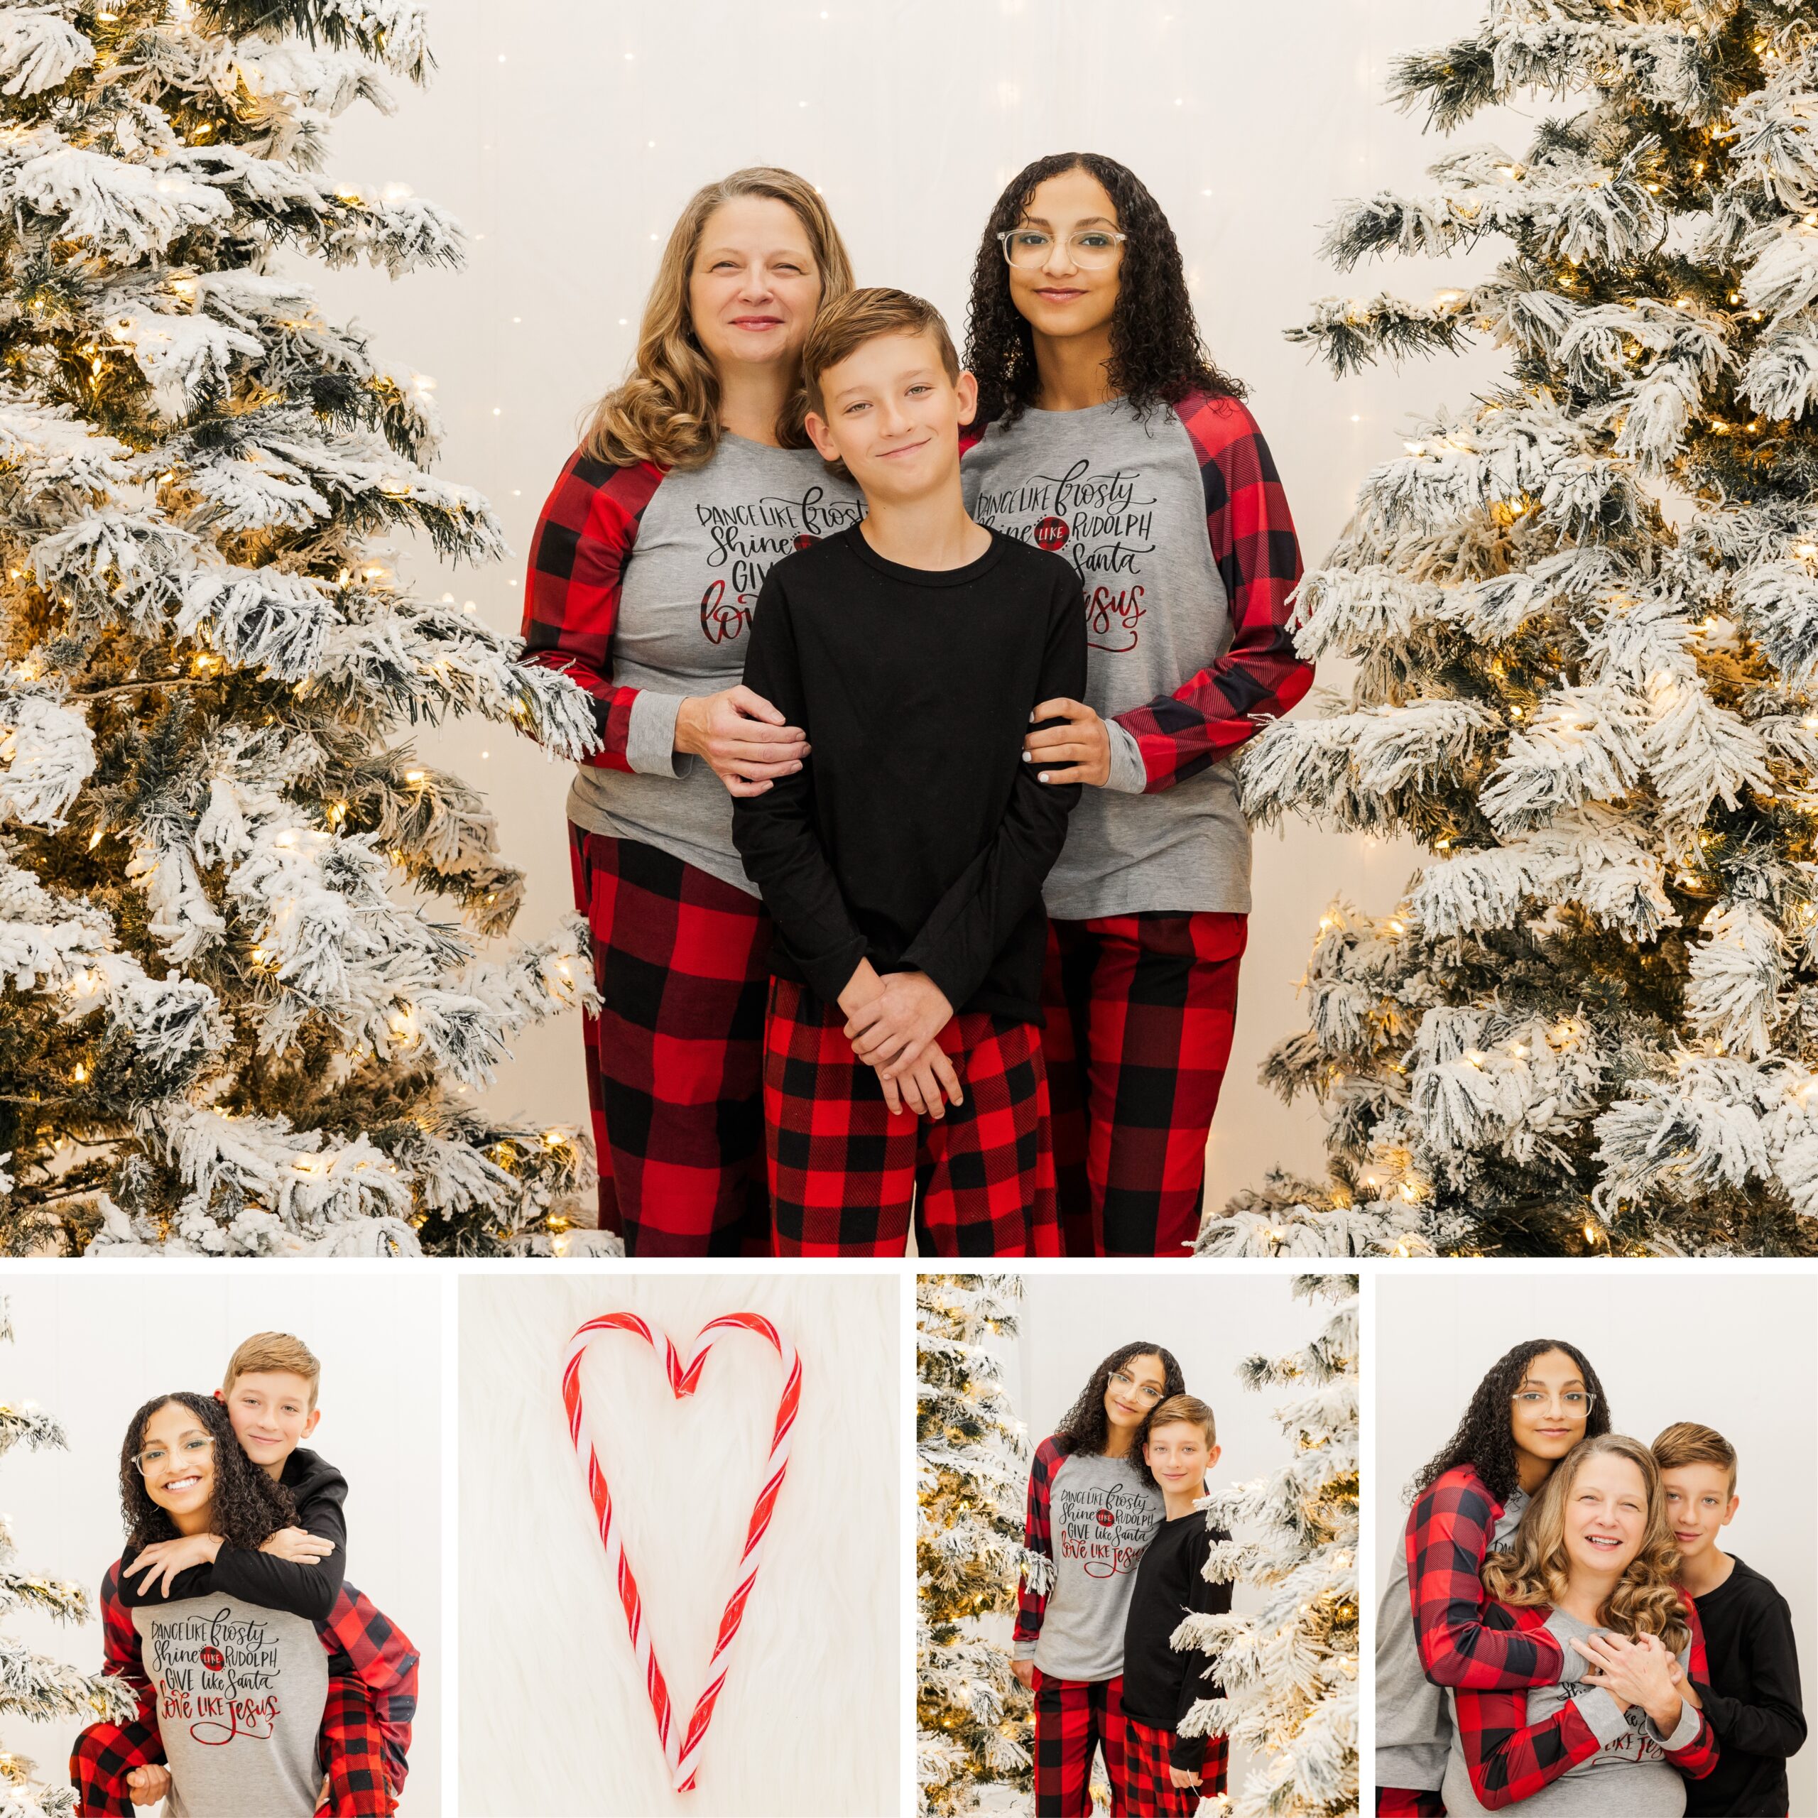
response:
<path id="1" fill-rule="evenodd" d="M 1009 233 L 1036 189 L 1064 171 L 1098 178 L 1118 211 L 1124 265 L 1111 313 L 1111 389 L 1140 415 L 1178 404 L 1189 391 L 1242 398 L 1244 385 L 1214 365 L 1200 340 L 1174 229 L 1142 180 L 1096 151 L 1058 151 L 1024 165 L 998 196 L 973 262 L 973 300 L 965 315 L 965 365 L 978 380 L 978 422 L 1016 422 L 1034 402 L 1034 331 L 1011 302 L 1011 271 L 1000 233 Z"/>

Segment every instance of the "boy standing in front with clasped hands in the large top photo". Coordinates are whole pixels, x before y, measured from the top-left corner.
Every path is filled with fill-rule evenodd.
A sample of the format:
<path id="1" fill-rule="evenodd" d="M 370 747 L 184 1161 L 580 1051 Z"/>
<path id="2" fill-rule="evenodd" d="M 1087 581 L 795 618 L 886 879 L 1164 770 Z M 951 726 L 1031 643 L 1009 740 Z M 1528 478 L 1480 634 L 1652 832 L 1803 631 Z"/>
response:
<path id="1" fill-rule="evenodd" d="M 1042 884 L 1080 787 L 1024 762 L 1085 687 L 1080 580 L 967 516 L 976 385 L 940 313 L 853 291 L 802 353 L 865 518 L 771 569 L 745 685 L 813 756 L 733 804 L 776 924 L 764 1118 L 780 1254 L 1058 1254 Z"/>

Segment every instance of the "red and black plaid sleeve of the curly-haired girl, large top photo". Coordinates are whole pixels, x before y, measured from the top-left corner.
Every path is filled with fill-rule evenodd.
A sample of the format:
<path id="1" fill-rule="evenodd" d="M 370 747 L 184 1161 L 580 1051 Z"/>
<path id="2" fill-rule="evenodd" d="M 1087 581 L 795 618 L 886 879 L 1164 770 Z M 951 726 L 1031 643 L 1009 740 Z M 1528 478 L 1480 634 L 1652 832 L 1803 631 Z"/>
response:
<path id="1" fill-rule="evenodd" d="M 1229 756 L 1264 720 L 1287 713 L 1313 684 L 1294 654 L 1289 594 L 1300 584 L 1300 540 L 1274 456 L 1236 400 L 1193 393 L 1174 405 L 1205 491 L 1205 531 L 1231 604 L 1231 649 L 1144 707 L 1116 716 L 1142 753 L 1147 794 Z"/>

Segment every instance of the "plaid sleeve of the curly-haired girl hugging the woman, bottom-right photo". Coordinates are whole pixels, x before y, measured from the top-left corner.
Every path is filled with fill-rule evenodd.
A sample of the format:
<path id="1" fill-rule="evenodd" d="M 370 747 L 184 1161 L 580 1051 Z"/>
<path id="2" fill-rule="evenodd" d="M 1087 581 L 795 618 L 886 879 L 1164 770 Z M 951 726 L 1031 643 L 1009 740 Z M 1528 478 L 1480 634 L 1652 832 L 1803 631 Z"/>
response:
<path id="1" fill-rule="evenodd" d="M 1551 1685 L 1565 1665 L 1560 1643 L 1542 1631 L 1485 1627 L 1478 1573 L 1502 1505 L 1469 1465 L 1438 1478 L 1407 1518 L 1407 1594 L 1414 1607 L 1420 1665 L 1434 1685 L 1522 1691 Z"/>

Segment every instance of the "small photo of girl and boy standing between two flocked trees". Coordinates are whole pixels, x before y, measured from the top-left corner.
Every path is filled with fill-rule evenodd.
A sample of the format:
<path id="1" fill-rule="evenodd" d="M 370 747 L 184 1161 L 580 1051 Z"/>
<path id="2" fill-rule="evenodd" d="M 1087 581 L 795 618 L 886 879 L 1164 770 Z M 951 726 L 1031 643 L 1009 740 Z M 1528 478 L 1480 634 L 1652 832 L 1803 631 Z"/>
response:
<path id="1" fill-rule="evenodd" d="M 1358 1796 L 1354 1276 L 924 1274 L 918 1809 Z"/>

